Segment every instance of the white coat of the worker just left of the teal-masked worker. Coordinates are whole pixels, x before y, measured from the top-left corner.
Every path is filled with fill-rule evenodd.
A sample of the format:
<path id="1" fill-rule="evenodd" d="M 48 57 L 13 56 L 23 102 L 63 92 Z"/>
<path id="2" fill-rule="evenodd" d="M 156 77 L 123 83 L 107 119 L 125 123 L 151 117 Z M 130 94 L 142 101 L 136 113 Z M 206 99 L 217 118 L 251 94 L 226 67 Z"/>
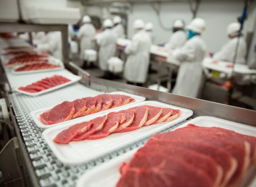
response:
<path id="1" fill-rule="evenodd" d="M 172 33 L 169 42 L 164 46 L 168 49 L 181 48 L 188 39 L 188 35 L 184 30 L 178 30 Z"/>

